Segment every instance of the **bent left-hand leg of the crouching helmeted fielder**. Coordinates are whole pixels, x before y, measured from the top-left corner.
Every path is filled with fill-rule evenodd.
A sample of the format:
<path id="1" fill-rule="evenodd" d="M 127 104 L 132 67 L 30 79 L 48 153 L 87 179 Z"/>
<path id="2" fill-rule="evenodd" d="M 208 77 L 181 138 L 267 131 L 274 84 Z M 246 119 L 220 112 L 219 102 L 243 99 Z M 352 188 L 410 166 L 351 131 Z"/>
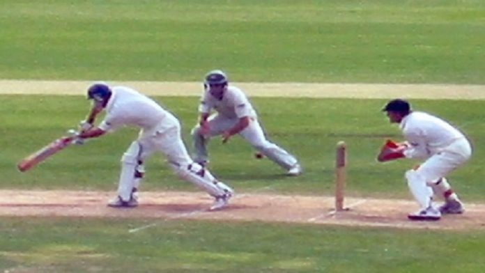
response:
<path id="1" fill-rule="evenodd" d="M 211 137 L 220 135 L 222 132 L 224 132 L 224 130 L 228 130 L 229 128 L 233 127 L 233 125 L 236 124 L 236 120 L 231 120 L 218 114 L 213 114 L 208 118 L 208 123 L 210 128 L 208 134 L 202 134 L 199 125 L 196 125 L 191 131 L 192 144 L 194 146 L 194 161 L 203 164 L 204 166 L 209 161 L 209 153 L 207 150 L 209 139 Z"/>

